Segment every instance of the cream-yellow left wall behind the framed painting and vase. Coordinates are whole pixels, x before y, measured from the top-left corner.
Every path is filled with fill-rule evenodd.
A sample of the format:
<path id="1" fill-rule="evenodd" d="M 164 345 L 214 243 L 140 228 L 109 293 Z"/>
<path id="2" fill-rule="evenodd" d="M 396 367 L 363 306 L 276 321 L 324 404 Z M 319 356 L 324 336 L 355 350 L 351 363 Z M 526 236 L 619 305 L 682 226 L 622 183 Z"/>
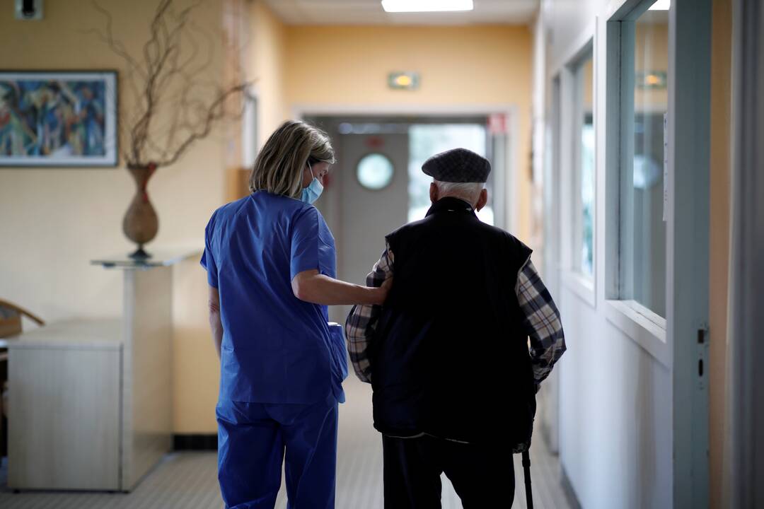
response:
<path id="1" fill-rule="evenodd" d="M 117 37 L 125 40 L 128 50 L 138 52 L 157 2 L 99 3 L 114 14 Z M 124 73 L 121 60 L 88 33 L 104 27 L 91 2 L 48 0 L 44 21 L 15 20 L 12 4 L 0 2 L 3 68 Z M 222 0 L 202 2 L 196 11 L 194 21 L 213 34 L 216 56 L 201 79 L 222 74 L 222 37 L 215 37 L 221 12 Z M 124 112 L 134 102 L 124 80 L 120 85 Z M 218 131 L 151 179 L 149 193 L 160 230 L 147 249 L 177 243 L 202 246 L 206 222 L 224 195 L 224 147 Z M 90 266 L 89 260 L 131 250 L 121 221 L 133 193 L 134 183 L 122 163 L 115 169 L 0 169 L 0 297 L 47 321 L 118 315 L 121 272 Z M 176 430 L 215 430 L 217 364 L 206 324 L 206 281 L 198 261 L 179 266 L 175 281 Z"/>

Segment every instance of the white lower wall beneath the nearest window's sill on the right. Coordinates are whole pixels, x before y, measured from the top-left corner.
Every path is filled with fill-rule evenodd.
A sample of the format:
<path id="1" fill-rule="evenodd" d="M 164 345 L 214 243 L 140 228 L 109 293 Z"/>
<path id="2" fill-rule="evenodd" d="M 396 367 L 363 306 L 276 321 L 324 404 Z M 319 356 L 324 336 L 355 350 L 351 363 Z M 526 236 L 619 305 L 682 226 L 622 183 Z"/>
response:
<path id="1" fill-rule="evenodd" d="M 581 506 L 671 507 L 671 372 L 562 285 L 560 459 Z"/>

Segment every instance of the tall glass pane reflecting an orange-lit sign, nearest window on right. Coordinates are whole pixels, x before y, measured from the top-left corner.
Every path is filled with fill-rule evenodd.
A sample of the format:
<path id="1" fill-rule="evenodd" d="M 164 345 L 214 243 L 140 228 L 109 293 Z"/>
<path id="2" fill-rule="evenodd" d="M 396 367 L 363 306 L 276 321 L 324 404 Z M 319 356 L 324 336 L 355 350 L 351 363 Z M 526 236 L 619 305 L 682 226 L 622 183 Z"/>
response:
<path id="1" fill-rule="evenodd" d="M 666 3 L 666 2 L 663 2 Z M 669 109 L 669 11 L 650 9 L 633 24 L 633 154 L 626 185 L 625 246 L 631 263 L 626 298 L 665 317 L 666 227 L 663 217 L 664 118 Z M 630 209 L 630 210 L 629 210 Z M 629 273 L 630 272 L 630 273 Z"/>

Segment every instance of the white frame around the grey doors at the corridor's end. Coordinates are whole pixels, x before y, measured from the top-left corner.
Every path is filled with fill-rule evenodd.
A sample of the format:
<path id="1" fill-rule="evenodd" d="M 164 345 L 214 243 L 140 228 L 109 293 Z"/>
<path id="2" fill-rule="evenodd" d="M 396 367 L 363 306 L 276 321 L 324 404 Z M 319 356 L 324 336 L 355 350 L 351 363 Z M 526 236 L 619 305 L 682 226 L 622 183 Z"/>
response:
<path id="1" fill-rule="evenodd" d="M 489 116 L 503 114 L 507 118 L 507 150 L 504 165 L 507 172 L 494 176 L 494 204 L 503 208 L 500 225 L 511 233 L 518 233 L 517 227 L 517 168 L 520 166 L 517 151 L 519 122 L 517 106 L 507 103 L 486 103 L 474 105 L 418 105 L 418 104 L 352 104 L 335 105 L 321 103 L 297 103 L 291 108 L 292 118 L 342 117 L 343 115 L 374 117 L 458 117 Z"/>

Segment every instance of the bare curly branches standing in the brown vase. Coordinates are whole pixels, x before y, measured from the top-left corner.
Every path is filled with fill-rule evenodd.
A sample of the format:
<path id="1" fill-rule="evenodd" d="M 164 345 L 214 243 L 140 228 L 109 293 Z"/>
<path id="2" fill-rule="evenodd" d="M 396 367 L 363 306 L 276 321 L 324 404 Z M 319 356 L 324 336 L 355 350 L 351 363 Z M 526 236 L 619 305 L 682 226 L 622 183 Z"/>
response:
<path id="1" fill-rule="evenodd" d="M 123 81 L 136 99 L 128 121 L 120 122 L 128 140 L 122 154 L 128 167 L 175 163 L 194 142 L 207 137 L 215 124 L 235 116 L 231 109 L 237 108 L 231 104 L 241 105 L 248 82 L 224 86 L 199 79 L 212 64 L 214 47 L 213 38 L 190 19 L 200 3 L 179 10 L 174 0 L 158 0 L 148 40 L 141 55 L 134 56 L 115 39 L 112 14 L 93 2 L 106 21 L 105 32 L 96 34 L 125 61 Z M 200 43 L 199 37 L 205 40 Z M 200 58 L 202 45 L 207 51 Z"/>

